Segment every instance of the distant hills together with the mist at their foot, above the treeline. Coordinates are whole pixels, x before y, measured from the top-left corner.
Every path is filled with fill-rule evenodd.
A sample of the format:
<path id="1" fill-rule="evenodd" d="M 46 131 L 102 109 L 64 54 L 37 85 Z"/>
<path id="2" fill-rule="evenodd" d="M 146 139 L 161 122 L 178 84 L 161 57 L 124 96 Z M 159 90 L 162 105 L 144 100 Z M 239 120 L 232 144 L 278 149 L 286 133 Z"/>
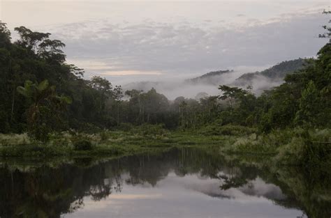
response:
<path id="1" fill-rule="evenodd" d="M 253 92 L 260 94 L 282 84 L 288 73 L 300 70 L 304 67 L 305 62 L 304 59 L 283 61 L 266 70 L 245 73 L 240 77 L 237 77 L 238 72 L 233 70 L 218 70 L 182 81 L 138 81 L 124 85 L 123 89 L 149 91 L 151 88 L 156 88 L 156 91 L 165 93 L 168 98 L 175 99 L 178 96 L 194 98 L 197 93 L 201 92 L 216 95 L 218 93 L 217 86 L 225 84 L 242 88 L 253 86 Z"/>

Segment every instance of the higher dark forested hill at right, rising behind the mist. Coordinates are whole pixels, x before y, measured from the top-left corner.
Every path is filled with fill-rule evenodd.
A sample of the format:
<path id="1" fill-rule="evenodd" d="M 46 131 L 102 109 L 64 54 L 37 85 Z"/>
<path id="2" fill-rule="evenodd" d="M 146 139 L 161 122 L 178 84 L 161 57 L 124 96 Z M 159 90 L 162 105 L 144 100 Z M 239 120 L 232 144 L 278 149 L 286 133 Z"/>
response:
<path id="1" fill-rule="evenodd" d="M 292 61 L 283 61 L 278 63 L 277 65 L 268 68 L 267 70 L 263 70 L 260 72 L 249 72 L 245 73 L 241 77 L 235 80 L 233 84 L 237 86 L 248 86 L 253 85 L 253 81 L 257 79 L 269 79 L 272 81 L 283 81 L 283 79 L 290 72 L 295 72 L 304 68 L 306 63 L 306 59 L 295 59 Z"/>

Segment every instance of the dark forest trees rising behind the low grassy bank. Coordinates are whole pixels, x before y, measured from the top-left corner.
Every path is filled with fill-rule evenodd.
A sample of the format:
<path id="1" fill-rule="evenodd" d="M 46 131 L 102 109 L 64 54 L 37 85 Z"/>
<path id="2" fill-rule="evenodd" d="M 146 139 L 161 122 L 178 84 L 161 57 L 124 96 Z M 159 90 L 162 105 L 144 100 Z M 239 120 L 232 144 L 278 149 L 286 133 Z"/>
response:
<path id="1" fill-rule="evenodd" d="M 0 132 L 29 132 L 37 138 L 57 130 L 94 130 L 161 124 L 169 129 L 244 125 L 261 132 L 294 127 L 331 127 L 331 44 L 286 75 L 284 84 L 256 96 L 219 86 L 220 95 L 173 101 L 152 88 L 123 91 L 66 63 L 64 43 L 20 26 L 13 42 L 0 23 Z M 200 99 L 199 99 L 200 98 Z"/>

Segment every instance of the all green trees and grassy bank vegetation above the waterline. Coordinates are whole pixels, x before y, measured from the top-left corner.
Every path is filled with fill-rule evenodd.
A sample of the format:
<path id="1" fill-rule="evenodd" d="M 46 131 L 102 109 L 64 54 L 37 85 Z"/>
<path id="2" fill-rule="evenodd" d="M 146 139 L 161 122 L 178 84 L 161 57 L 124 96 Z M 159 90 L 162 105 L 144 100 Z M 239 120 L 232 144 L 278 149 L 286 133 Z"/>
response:
<path id="1" fill-rule="evenodd" d="M 223 85 L 220 95 L 170 101 L 154 88 L 124 92 L 98 76 L 84 79 L 82 69 L 66 63 L 63 42 L 24 26 L 15 31 L 20 38 L 12 42 L 0 22 L 1 156 L 217 146 L 223 153 L 272 155 L 281 164 L 330 167 L 330 43 L 260 96 L 251 86 Z M 303 60 L 290 63 L 263 74 L 279 77 Z"/>

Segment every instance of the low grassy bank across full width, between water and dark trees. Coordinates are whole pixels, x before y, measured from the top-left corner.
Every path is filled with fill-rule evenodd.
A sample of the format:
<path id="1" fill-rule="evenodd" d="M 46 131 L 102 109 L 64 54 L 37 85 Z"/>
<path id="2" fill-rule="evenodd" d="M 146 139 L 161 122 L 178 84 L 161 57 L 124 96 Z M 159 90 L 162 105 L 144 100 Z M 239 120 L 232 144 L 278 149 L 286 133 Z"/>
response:
<path id="1" fill-rule="evenodd" d="M 153 128 L 152 130 L 149 130 Z M 228 155 L 267 155 L 278 164 L 331 166 L 331 130 L 288 129 L 257 134 L 251 128 L 207 127 L 170 132 L 158 127 L 94 134 L 61 132 L 45 143 L 27 134 L 1 134 L 1 157 L 118 157 L 173 147 L 198 147 Z"/>

